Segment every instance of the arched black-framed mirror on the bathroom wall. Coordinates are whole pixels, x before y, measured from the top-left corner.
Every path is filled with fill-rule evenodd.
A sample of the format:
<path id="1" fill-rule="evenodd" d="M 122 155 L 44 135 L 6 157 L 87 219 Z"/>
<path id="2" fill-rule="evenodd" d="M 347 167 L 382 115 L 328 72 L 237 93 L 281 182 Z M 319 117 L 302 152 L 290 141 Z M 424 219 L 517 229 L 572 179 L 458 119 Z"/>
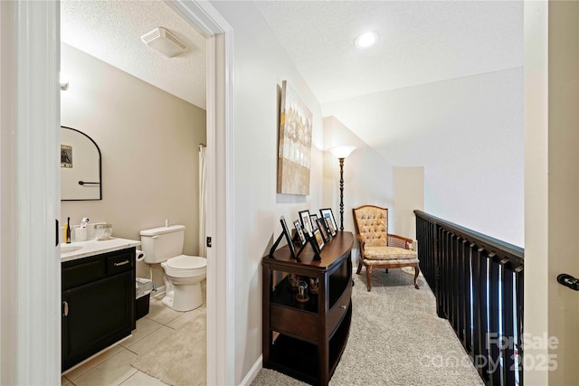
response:
<path id="1" fill-rule="evenodd" d="M 102 200 L 100 148 L 86 134 L 61 127 L 61 200 Z"/>

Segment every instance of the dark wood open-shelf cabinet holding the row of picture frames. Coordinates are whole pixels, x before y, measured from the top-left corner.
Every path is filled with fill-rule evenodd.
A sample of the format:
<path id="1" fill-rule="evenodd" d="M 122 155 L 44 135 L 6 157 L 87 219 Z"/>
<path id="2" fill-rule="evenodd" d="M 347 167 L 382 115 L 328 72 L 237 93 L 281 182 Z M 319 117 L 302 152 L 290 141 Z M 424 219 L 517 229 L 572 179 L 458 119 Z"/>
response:
<path id="1" fill-rule="evenodd" d="M 261 260 L 263 275 L 263 366 L 310 384 L 327 385 L 346 347 L 352 319 L 354 237 L 337 232 L 315 260 L 307 246 L 300 261 L 287 246 L 274 259 Z M 318 278 L 318 294 L 301 303 L 289 286 L 289 274 Z"/>

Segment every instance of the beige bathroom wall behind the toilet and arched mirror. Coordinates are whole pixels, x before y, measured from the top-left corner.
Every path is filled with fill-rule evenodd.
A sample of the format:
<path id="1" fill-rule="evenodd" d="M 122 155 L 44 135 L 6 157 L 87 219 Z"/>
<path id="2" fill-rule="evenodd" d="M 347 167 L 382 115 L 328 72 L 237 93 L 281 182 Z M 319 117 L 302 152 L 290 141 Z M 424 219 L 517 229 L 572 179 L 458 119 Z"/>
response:
<path id="1" fill-rule="evenodd" d="M 100 147 L 102 200 L 63 201 L 71 217 L 113 224 L 113 236 L 140 240 L 139 231 L 185 225 L 184 253 L 198 252 L 198 145 L 205 142 L 205 111 L 62 43 L 61 123 Z M 74 156 L 74 152 L 73 152 Z M 138 264 L 139 277 L 148 268 Z M 154 281 L 162 286 L 162 270 Z"/>

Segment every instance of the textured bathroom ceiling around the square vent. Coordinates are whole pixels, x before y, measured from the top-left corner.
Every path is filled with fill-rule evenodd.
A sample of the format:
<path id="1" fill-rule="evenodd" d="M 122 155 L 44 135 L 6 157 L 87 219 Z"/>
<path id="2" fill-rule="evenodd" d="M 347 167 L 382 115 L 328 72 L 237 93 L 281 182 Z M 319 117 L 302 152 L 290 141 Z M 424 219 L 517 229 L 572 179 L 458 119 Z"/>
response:
<path id="1" fill-rule="evenodd" d="M 167 58 L 147 47 L 140 36 L 157 27 L 174 33 L 189 50 Z M 64 0 L 61 40 L 205 108 L 205 38 L 162 1 Z"/>

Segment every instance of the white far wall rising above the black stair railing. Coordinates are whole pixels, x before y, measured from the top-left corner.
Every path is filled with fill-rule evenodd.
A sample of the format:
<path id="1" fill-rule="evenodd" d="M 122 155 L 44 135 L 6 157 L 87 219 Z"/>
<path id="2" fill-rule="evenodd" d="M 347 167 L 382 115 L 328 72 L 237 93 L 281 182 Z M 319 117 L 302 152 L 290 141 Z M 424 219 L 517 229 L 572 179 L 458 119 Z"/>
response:
<path id="1" fill-rule="evenodd" d="M 396 167 L 424 167 L 424 210 L 499 240 L 524 245 L 523 71 L 444 80 L 324 105 L 336 115 L 384 106 L 359 136 Z M 336 112 L 336 114 L 334 114 Z M 347 121 L 345 121 L 347 122 Z M 366 125 L 368 127 L 368 125 Z"/>

